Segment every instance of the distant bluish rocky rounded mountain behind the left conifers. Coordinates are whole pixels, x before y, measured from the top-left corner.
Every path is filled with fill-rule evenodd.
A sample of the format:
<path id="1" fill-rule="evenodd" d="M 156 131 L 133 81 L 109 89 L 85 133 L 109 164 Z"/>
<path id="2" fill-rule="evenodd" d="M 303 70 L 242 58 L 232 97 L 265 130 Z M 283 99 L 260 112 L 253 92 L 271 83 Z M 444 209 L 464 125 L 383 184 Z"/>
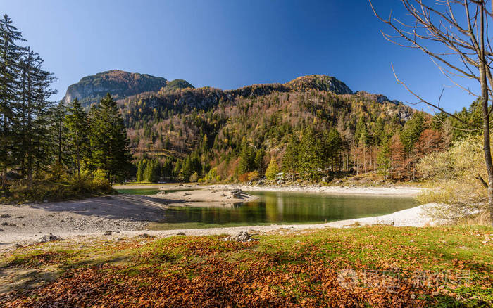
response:
<path id="1" fill-rule="evenodd" d="M 67 104 L 77 98 L 87 108 L 92 103 L 98 102 L 108 92 L 116 99 L 121 99 L 143 92 L 159 91 L 163 88 L 175 90 L 193 87 L 192 84 L 182 79 L 170 82 L 163 77 L 109 70 L 82 77 L 80 82 L 68 86 L 63 103 Z"/>

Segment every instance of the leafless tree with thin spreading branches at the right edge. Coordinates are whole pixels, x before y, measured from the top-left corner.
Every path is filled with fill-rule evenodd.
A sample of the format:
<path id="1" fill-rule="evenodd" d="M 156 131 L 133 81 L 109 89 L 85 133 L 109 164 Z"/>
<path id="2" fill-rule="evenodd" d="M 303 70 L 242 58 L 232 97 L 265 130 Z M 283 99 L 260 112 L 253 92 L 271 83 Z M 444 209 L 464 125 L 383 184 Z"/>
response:
<path id="1" fill-rule="evenodd" d="M 399 46 L 411 49 L 419 49 L 430 56 L 440 72 L 448 77 L 451 82 L 473 96 L 480 98 L 482 103 L 482 127 L 472 127 L 470 130 L 482 130 L 483 149 L 488 179 L 483 179 L 478 174 L 477 179 L 487 188 L 490 218 L 493 222 L 493 162 L 490 148 L 490 117 L 492 105 L 493 76 L 492 61 L 493 51 L 489 42 L 489 20 L 493 18 L 493 8 L 489 7 L 487 0 L 400 0 L 406 11 L 406 20 L 392 17 L 382 18 L 375 10 L 371 0 L 370 6 L 373 13 L 389 25 L 392 34 L 382 32 L 385 39 Z M 426 3 L 425 3 L 426 2 Z M 492 1 L 493 5 L 493 1 Z M 394 68 L 392 66 L 392 70 Z M 394 76 L 399 84 L 402 84 L 418 102 L 430 105 L 432 108 L 454 117 L 460 122 L 462 119 L 448 113 L 437 102 L 427 101 L 416 92 L 401 82 L 395 71 Z M 480 93 L 474 93 L 456 82 L 456 78 L 473 79 L 480 85 Z"/>

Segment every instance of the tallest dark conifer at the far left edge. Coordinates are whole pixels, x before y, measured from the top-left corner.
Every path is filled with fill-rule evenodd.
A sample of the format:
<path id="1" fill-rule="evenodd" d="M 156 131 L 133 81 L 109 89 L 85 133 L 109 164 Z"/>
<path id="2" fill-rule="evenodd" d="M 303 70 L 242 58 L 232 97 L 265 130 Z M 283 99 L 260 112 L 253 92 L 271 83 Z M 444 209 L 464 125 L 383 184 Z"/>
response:
<path id="1" fill-rule="evenodd" d="M 0 167 L 3 190 L 6 190 L 7 170 L 13 165 L 12 149 L 15 143 L 15 109 L 18 103 L 20 57 L 23 48 L 18 42 L 25 41 L 12 25 L 8 15 L 0 20 Z"/>

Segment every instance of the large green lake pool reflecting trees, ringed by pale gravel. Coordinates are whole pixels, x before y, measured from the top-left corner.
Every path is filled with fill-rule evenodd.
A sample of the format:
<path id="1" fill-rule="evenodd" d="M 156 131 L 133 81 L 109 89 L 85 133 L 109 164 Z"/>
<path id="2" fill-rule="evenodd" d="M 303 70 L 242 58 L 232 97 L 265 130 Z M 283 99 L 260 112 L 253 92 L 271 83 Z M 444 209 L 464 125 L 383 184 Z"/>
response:
<path id="1" fill-rule="evenodd" d="M 230 207 L 170 207 L 154 229 L 241 226 L 249 224 L 308 224 L 379 216 L 415 207 L 413 198 L 326 195 L 320 193 L 249 192 L 258 200 Z"/>

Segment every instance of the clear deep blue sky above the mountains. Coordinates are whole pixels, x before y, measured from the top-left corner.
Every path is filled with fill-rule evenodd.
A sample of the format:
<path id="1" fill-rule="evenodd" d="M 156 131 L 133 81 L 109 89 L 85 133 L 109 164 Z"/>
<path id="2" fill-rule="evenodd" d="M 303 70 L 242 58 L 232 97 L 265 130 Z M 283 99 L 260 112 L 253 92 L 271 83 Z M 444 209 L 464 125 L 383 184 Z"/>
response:
<path id="1" fill-rule="evenodd" d="M 399 1 L 374 2 L 382 15 L 404 13 Z M 367 0 L 0 0 L 0 10 L 58 77 L 54 99 L 85 75 L 120 69 L 220 89 L 325 74 L 353 91 L 416 102 L 391 63 L 430 101 L 444 89 L 448 110 L 474 99 L 420 51 L 386 41 Z"/>

